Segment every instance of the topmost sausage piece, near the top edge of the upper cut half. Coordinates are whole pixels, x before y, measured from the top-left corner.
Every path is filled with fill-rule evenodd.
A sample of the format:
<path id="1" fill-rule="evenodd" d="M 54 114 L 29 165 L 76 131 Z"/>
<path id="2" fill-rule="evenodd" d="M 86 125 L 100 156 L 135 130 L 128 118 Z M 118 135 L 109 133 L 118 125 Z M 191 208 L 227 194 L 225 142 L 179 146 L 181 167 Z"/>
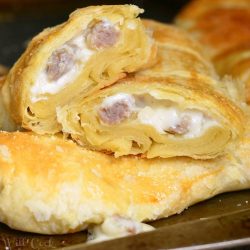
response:
<path id="1" fill-rule="evenodd" d="M 117 43 L 119 36 L 120 31 L 114 25 L 101 21 L 87 33 L 87 43 L 92 49 L 109 48 Z"/>

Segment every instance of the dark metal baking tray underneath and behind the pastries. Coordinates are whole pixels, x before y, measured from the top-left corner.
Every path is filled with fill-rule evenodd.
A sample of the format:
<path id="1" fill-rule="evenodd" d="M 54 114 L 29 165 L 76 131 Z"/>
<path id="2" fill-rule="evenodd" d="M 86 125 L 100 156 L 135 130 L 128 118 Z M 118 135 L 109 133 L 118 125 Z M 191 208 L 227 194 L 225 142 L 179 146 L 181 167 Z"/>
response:
<path id="1" fill-rule="evenodd" d="M 66 20 L 77 7 L 134 3 L 146 10 L 144 17 L 169 22 L 185 2 L 0 0 L 0 64 L 13 65 L 35 34 Z M 219 195 L 151 225 L 156 230 L 87 245 L 86 232 L 47 236 L 0 224 L 0 249 L 250 249 L 250 190 Z"/>

